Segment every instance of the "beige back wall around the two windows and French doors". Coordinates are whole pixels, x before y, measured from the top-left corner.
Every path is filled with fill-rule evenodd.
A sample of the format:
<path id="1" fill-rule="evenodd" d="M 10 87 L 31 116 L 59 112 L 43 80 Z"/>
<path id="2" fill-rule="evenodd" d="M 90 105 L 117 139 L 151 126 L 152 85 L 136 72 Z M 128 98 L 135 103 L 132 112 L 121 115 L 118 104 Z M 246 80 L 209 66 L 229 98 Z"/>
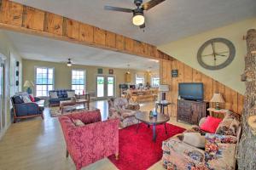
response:
<path id="1" fill-rule="evenodd" d="M 85 70 L 86 71 L 86 90 L 96 92 L 96 73 L 98 68 L 103 69 L 103 74 L 108 74 L 109 68 L 101 66 L 89 66 L 89 65 L 73 65 L 67 67 L 65 63 L 54 63 L 45 62 L 38 60 L 23 59 L 23 83 L 26 80 L 34 81 L 34 68 L 35 66 L 45 66 L 55 68 L 55 89 L 60 88 L 71 88 L 71 71 L 73 69 Z M 125 72 L 126 69 L 113 69 L 113 76 L 116 77 L 116 96 L 119 96 L 119 84 L 125 83 Z M 136 71 L 131 70 L 130 84 L 135 83 Z M 24 89 L 25 90 L 25 89 Z"/>

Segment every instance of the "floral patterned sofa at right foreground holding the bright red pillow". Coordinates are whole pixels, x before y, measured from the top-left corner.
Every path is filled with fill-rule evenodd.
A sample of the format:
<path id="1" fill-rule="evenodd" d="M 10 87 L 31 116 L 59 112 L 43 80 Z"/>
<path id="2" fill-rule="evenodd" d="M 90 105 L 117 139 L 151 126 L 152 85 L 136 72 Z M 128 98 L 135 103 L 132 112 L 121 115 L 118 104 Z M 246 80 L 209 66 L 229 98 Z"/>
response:
<path id="1" fill-rule="evenodd" d="M 206 118 L 202 118 L 201 123 Z M 183 142 L 184 133 L 205 135 L 205 148 Z M 167 139 L 162 144 L 162 163 L 166 169 L 225 169 L 236 168 L 236 147 L 241 135 L 241 124 L 234 113 L 228 113 L 215 133 L 203 132 L 199 126 Z"/>

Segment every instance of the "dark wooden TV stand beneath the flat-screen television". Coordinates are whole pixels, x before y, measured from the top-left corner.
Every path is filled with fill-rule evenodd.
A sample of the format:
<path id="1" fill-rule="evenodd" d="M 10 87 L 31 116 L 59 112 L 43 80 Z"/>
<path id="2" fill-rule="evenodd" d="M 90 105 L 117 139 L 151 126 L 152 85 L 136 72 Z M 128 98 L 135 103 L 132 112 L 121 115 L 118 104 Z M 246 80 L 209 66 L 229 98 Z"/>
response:
<path id="1" fill-rule="evenodd" d="M 209 103 L 206 101 L 194 101 L 187 99 L 177 100 L 177 121 L 196 124 L 200 122 L 202 117 L 206 117 Z"/>

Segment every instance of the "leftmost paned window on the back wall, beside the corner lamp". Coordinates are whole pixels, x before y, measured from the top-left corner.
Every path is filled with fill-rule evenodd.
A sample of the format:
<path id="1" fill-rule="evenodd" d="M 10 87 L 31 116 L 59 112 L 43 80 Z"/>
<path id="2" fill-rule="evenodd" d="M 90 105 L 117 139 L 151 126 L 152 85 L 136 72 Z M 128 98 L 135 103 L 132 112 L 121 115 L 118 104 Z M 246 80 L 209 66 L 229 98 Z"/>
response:
<path id="1" fill-rule="evenodd" d="M 36 94 L 48 96 L 54 85 L 54 69 L 46 67 L 36 68 Z"/>

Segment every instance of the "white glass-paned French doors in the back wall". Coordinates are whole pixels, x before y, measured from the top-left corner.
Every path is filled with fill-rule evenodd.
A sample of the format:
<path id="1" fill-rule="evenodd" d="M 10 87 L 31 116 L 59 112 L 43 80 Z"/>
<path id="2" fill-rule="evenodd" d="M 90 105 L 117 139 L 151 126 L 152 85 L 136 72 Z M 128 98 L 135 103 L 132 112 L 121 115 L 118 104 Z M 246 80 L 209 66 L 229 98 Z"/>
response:
<path id="1" fill-rule="evenodd" d="M 108 99 L 115 96 L 115 77 L 113 75 L 96 75 L 97 99 Z"/>

